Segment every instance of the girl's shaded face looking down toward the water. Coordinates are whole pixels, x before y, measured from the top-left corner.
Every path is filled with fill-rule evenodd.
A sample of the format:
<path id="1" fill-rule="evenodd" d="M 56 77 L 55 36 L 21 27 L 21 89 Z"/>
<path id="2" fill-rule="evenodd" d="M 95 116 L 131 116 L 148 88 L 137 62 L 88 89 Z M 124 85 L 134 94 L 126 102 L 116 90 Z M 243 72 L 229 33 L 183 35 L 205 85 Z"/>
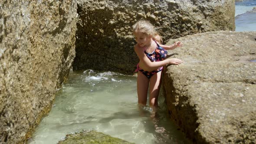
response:
<path id="1" fill-rule="evenodd" d="M 145 35 L 140 31 L 135 31 L 133 34 L 135 36 L 135 41 L 140 47 L 150 45 L 152 36 Z"/>

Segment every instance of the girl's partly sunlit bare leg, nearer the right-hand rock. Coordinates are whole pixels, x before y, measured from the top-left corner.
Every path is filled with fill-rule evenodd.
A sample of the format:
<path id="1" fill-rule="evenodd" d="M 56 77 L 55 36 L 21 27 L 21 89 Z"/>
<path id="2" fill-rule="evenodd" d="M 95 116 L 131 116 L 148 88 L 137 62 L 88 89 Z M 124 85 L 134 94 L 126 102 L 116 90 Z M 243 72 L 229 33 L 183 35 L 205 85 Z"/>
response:
<path id="1" fill-rule="evenodd" d="M 161 72 L 154 74 L 150 78 L 149 82 L 149 106 L 157 107 L 158 106 L 158 94 L 161 86 Z"/>

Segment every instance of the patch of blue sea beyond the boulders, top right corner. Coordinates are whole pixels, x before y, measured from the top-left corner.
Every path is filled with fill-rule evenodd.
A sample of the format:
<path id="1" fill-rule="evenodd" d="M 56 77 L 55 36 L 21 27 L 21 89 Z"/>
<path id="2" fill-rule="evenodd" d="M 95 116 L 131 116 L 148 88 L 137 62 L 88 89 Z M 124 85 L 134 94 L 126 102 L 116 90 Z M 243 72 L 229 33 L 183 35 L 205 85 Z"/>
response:
<path id="1" fill-rule="evenodd" d="M 236 2 L 236 31 L 256 31 L 256 0 Z"/>

